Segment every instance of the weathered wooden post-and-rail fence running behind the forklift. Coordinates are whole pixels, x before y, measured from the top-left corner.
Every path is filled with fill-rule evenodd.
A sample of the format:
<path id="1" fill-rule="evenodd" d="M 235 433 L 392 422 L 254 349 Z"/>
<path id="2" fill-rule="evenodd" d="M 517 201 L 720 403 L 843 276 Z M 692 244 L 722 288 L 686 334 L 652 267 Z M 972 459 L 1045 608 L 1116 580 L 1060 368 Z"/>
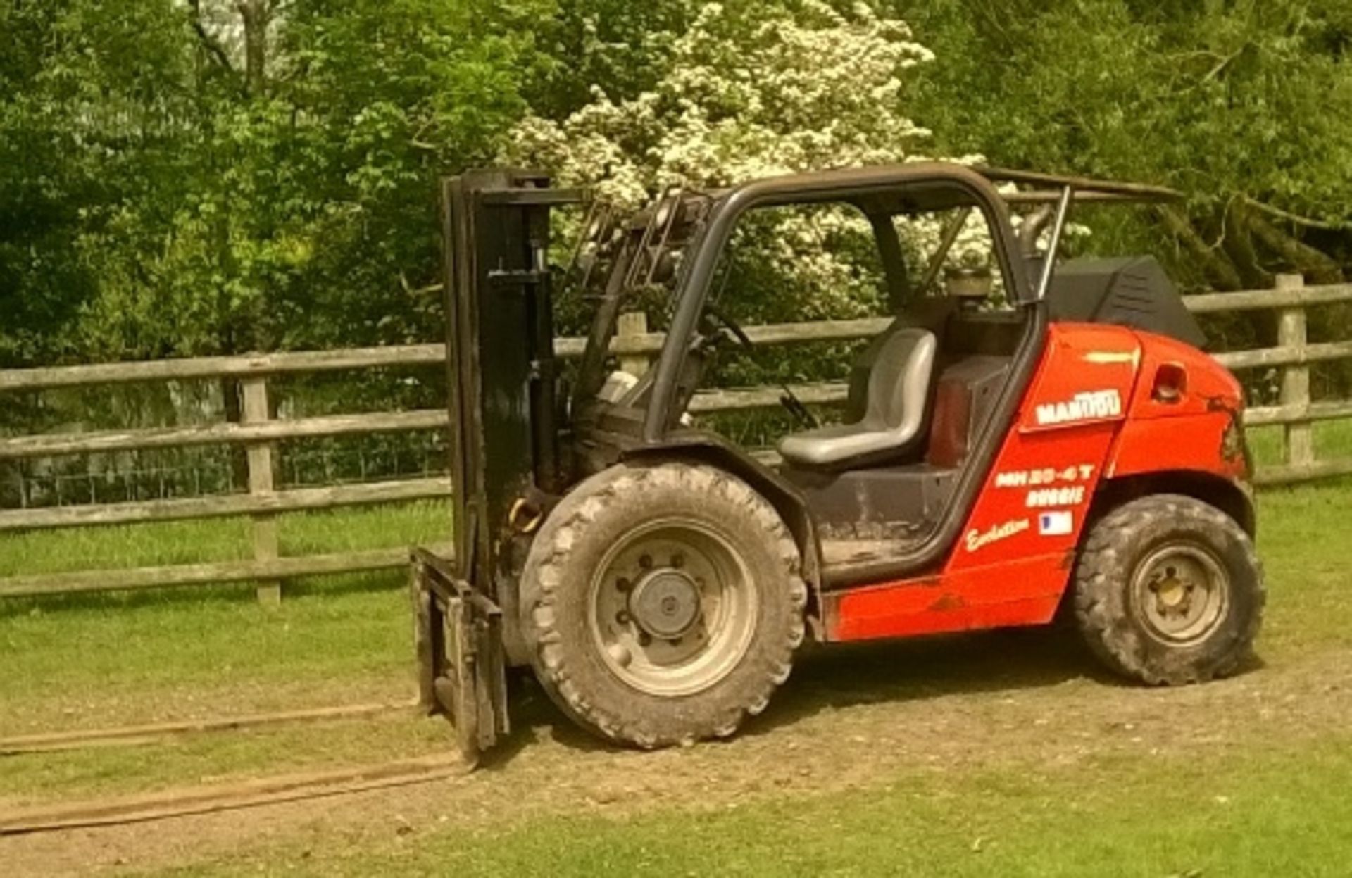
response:
<path id="1" fill-rule="evenodd" d="M 1283 463 L 1260 468 L 1256 478 L 1260 484 L 1352 472 L 1352 459 L 1315 460 L 1311 436 L 1314 421 L 1352 417 L 1352 400 L 1310 402 L 1310 364 L 1352 359 L 1352 341 L 1310 344 L 1306 338 L 1307 307 L 1349 300 L 1352 300 L 1352 284 L 1305 287 L 1299 276 L 1278 277 L 1274 290 L 1186 298 L 1188 308 L 1199 314 L 1278 311 L 1278 346 L 1217 354 L 1217 359 L 1232 369 L 1270 367 L 1280 369 L 1279 405 L 1249 409 L 1245 417 L 1248 425 L 1283 425 Z M 884 318 L 821 321 L 750 326 L 746 333 L 757 345 L 787 345 L 867 338 L 879 333 L 886 325 Z M 626 315 L 612 349 L 622 364 L 633 369 L 644 367 L 661 349 L 661 344 L 662 336 L 648 333 L 642 315 Z M 557 350 L 564 357 L 577 357 L 581 349 L 580 338 L 558 340 Z M 446 411 L 434 409 L 273 419 L 269 415 L 272 407 L 268 400 L 268 380 L 280 375 L 437 364 L 442 363 L 443 357 L 442 345 L 410 345 L 0 371 L 0 394 L 135 382 L 231 377 L 239 380 L 243 402 L 239 423 L 0 438 L 0 460 L 230 444 L 243 445 L 247 449 L 249 463 L 247 494 L 0 510 L 0 538 L 4 532 L 15 530 L 247 515 L 253 521 L 254 553 L 253 560 L 0 578 L 0 597 L 257 582 L 261 583 L 260 598 L 276 601 L 281 594 L 283 579 L 402 567 L 407 560 L 404 547 L 279 557 L 276 515 L 299 510 L 445 498 L 450 492 L 448 479 L 415 478 L 277 490 L 273 480 L 272 444 L 304 437 L 438 430 L 448 426 Z M 777 387 L 702 391 L 695 396 L 691 409 L 695 413 L 714 413 L 772 407 L 779 405 L 780 392 Z M 846 386 L 834 382 L 802 384 L 794 386 L 794 392 L 804 403 L 829 403 L 842 400 Z"/>

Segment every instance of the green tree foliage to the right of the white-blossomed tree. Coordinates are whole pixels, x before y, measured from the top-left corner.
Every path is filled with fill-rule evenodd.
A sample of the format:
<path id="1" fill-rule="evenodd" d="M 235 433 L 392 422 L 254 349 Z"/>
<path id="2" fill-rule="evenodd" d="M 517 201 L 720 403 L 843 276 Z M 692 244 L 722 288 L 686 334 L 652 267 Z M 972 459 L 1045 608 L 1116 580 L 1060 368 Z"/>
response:
<path id="1" fill-rule="evenodd" d="M 1344 235 L 1278 221 L 1274 246 L 1251 239 L 1234 206 L 1348 216 L 1352 12 L 1341 0 L 890 7 L 941 60 L 909 96 L 942 152 L 1183 189 L 1201 237 L 1168 249 L 1192 285 L 1267 285 L 1293 269 L 1336 279 L 1336 265 L 1295 245 L 1345 261 Z M 1174 241 L 1149 218 L 1095 230 L 1106 249 Z"/>

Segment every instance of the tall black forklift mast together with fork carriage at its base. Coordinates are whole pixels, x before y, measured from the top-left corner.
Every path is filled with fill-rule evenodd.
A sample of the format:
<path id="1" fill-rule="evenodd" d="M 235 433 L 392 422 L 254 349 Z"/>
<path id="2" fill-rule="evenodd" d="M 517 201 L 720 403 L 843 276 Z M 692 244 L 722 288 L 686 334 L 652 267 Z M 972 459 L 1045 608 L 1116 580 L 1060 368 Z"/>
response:
<path id="1" fill-rule="evenodd" d="M 422 703 L 449 716 L 469 760 L 508 728 L 507 549 L 564 475 L 549 210 L 576 200 L 521 170 L 442 184 L 454 557 L 414 551 L 414 602 Z"/>

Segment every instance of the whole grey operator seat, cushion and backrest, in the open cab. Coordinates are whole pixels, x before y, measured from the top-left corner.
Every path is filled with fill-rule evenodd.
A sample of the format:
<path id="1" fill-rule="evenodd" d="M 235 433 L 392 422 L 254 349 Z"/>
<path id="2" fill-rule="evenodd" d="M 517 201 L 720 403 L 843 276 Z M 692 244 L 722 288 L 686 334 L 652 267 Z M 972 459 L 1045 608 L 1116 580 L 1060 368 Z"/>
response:
<path id="1" fill-rule="evenodd" d="M 861 457 L 904 450 L 921 438 L 938 340 L 925 329 L 899 329 L 877 352 L 868 373 L 868 405 L 853 423 L 791 433 L 779 453 L 802 467 L 840 467 Z"/>

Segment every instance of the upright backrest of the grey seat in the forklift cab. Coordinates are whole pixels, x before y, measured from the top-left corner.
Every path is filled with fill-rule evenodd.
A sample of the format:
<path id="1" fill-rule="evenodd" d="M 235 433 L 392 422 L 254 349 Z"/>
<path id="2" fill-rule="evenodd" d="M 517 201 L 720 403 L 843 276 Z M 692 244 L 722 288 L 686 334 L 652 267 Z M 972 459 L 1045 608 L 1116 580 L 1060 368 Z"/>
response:
<path id="1" fill-rule="evenodd" d="M 919 433 L 925 421 L 930 375 L 938 340 L 925 329 L 902 329 L 877 352 L 868 375 L 868 410 L 864 425 L 888 430 L 898 441 Z"/>

